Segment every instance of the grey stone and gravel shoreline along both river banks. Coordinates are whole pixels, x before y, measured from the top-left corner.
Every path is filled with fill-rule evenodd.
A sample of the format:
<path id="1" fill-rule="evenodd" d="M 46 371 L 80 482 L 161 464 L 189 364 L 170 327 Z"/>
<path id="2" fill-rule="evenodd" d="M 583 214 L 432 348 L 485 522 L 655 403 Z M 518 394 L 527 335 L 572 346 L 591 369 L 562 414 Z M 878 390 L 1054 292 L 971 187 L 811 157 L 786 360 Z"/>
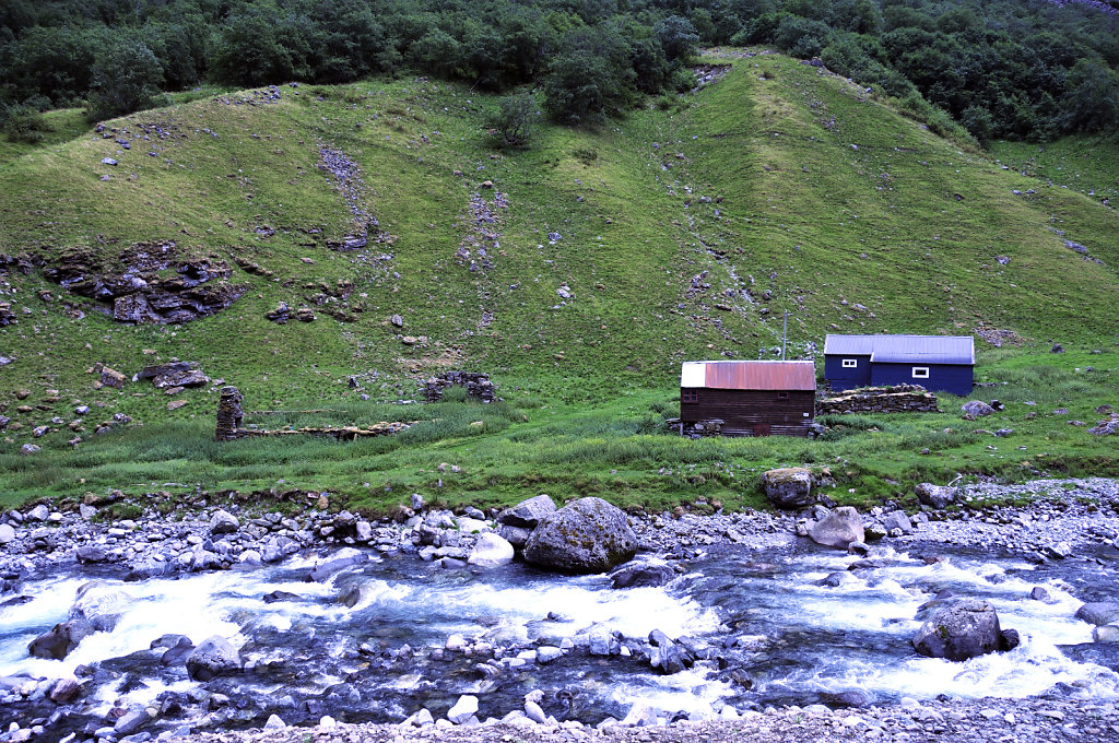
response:
<path id="1" fill-rule="evenodd" d="M 1028 502 L 1022 506 L 1010 501 Z M 827 499 L 824 499 L 827 502 Z M 1119 481 L 1108 479 L 1037 480 L 1006 486 L 978 483 L 962 488 L 959 511 L 923 508 L 913 514 L 908 529 L 881 529 L 882 544 L 912 551 L 951 544 L 1017 554 L 1032 562 L 1078 558 L 1088 548 L 1119 548 Z M 316 506 L 325 506 L 319 501 Z M 203 510 L 179 520 L 159 517 L 138 521 L 100 523 L 90 508 L 81 514 L 58 514 L 45 506 L 0 518 L 0 603 L 18 592 L 20 576 L 94 565 L 101 575 L 132 579 L 175 572 L 222 570 L 236 563 L 275 562 L 307 549 L 364 546 L 380 552 L 414 552 L 429 561 L 457 565 L 470 553 L 477 526 L 488 515 L 466 509 L 401 514 L 401 521 L 370 524 L 342 512 L 312 507 L 298 517 L 279 514 L 234 516 Z M 718 545 L 737 544 L 759 552 L 791 546 L 806 523 L 821 515 L 820 505 L 792 512 L 661 514 L 633 517 L 642 553 L 668 558 L 689 557 Z M 232 508 L 232 510 L 237 510 Z M 826 510 L 826 509 L 825 509 Z M 874 509 L 866 520 L 882 525 L 896 510 L 892 504 Z M 463 520 L 466 519 L 466 520 Z M 471 523 L 472 521 L 472 523 Z M 897 521 L 896 517 L 891 525 Z M 466 526 L 464 526 L 466 525 Z M 1099 554 L 1099 553 L 1097 553 Z M 289 741 L 897 741 L 1119 740 L 1119 712 L 1113 700 L 1084 704 L 1060 693 L 1052 698 L 943 699 L 904 702 L 885 707 L 828 709 L 819 705 L 745 712 L 733 708 L 731 720 L 680 722 L 667 727 L 623 726 L 591 728 L 579 723 L 536 724 L 515 714 L 507 722 L 451 726 L 448 721 L 424 726 L 335 725 L 280 727 L 269 731 L 201 733 L 176 740 L 207 743 L 286 743 Z M 554 721 L 549 721 L 554 722 Z M 0 734 L 0 740 L 9 736 Z"/>

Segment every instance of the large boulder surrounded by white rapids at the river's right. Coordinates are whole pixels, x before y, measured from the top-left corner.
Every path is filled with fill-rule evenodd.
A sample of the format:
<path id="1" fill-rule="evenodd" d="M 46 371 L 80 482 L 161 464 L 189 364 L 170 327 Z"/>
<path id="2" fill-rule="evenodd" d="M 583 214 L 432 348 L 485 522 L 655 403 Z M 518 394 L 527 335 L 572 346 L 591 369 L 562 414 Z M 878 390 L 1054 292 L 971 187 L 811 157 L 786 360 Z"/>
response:
<path id="1" fill-rule="evenodd" d="M 913 636 L 913 648 L 922 656 L 967 660 L 1006 650 L 1013 630 L 1003 631 L 995 608 L 982 599 L 962 599 L 937 612 Z"/>

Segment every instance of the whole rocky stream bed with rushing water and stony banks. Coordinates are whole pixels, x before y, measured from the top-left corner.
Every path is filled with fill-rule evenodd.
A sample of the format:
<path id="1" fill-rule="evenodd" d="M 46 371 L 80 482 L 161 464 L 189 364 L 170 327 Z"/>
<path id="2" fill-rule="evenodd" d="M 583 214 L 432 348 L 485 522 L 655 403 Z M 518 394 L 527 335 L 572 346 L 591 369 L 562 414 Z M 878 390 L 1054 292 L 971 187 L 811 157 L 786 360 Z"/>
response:
<path id="1" fill-rule="evenodd" d="M 508 561 L 527 505 L 9 511 L 0 741 L 1119 740 L 1119 482 L 886 504 L 849 551 L 798 536 L 821 500 L 631 516 L 590 575 Z M 959 599 L 1021 643 L 914 652 Z"/>

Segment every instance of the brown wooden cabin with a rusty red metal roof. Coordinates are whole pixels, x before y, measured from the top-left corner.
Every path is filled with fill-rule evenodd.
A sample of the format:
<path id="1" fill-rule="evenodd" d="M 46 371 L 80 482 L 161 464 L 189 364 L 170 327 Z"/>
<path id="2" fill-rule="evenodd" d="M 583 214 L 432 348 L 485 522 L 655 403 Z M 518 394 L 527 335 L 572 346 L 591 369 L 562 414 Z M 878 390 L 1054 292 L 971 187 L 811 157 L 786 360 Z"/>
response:
<path id="1" fill-rule="evenodd" d="M 816 410 L 812 361 L 685 361 L 683 426 L 722 421 L 724 436 L 807 436 Z"/>

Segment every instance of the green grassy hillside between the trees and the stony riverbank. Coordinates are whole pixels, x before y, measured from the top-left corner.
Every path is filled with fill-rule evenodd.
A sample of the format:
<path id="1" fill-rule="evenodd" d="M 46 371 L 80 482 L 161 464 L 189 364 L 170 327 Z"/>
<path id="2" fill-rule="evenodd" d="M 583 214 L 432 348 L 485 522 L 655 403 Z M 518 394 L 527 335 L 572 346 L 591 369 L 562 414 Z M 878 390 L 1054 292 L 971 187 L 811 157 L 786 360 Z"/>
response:
<path id="1" fill-rule="evenodd" d="M 1106 399 L 1119 341 L 1119 219 L 1098 194 L 1004 168 L 787 57 L 723 51 L 705 62 L 727 70 L 694 94 L 598 131 L 542 123 L 525 150 L 489 147 L 483 122 L 495 98 L 422 79 L 235 92 L 106 122 L 109 138 L 85 131 L 4 150 L 0 253 L 49 266 L 83 252 L 120 270 L 132 245 L 173 241 L 184 258 L 228 264 L 228 282 L 244 291 L 213 317 L 128 326 L 39 269 L 0 275 L 0 301 L 18 320 L 0 328 L 0 356 L 15 359 L 0 378 L 6 389 L 29 393 L 4 412 L 20 425 L 0 444 L 0 472 L 22 478 L 11 479 L 7 497 L 164 481 L 256 489 L 281 471 L 290 485 L 377 505 L 397 497 L 370 495 L 393 481 L 396 490 L 434 487 L 432 468 L 450 461 L 451 448 L 471 463 L 455 497 L 485 500 L 482 491 L 492 490 L 500 500 L 548 481 L 575 492 L 580 477 L 618 490 L 652 477 L 646 470 L 678 471 L 680 462 L 722 467 L 743 458 L 762 467 L 869 451 L 855 440 L 833 450 L 825 442 L 627 439 L 673 414 L 681 360 L 772 358 L 784 312 L 793 357 L 831 331 L 1002 330 L 1019 346 L 981 357 L 994 364 L 980 368 L 981 378 L 1000 379 L 995 370 L 1004 366 L 1010 374 L 1056 363 L 1068 376 L 1043 385 L 1054 404 L 1070 389 L 1081 391 L 1078 405 L 1119 403 Z M 325 169 L 325 151 L 336 167 L 339 157 L 356 163 L 359 179 L 340 184 Z M 106 157 L 119 164 L 101 164 Z M 1094 172 L 1096 188 L 1113 188 L 1102 182 L 1106 167 Z M 476 222 L 479 204 L 495 222 Z M 366 248 L 330 250 L 328 242 L 359 232 L 361 215 L 377 222 Z M 463 247 L 469 256 L 457 253 Z M 279 302 L 310 308 L 317 319 L 275 325 L 265 313 Z M 389 321 L 394 314 L 403 327 Z M 1050 341 L 1097 361 L 1089 387 L 1078 387 L 1073 354 L 1049 356 Z M 1104 352 L 1090 358 L 1091 350 Z M 412 397 L 416 379 L 454 368 L 491 373 L 509 407 L 449 404 L 454 412 L 442 414 L 440 431 L 417 426 L 407 455 L 403 444 L 385 442 L 222 449 L 206 441 L 213 388 L 180 394 L 187 404 L 169 411 L 169 398 L 147 384 L 91 386 L 97 363 L 131 375 L 172 357 L 237 385 L 246 410 L 351 406 L 344 417 L 431 417 L 361 408 L 358 395 L 369 395 L 369 405 Z M 347 384 L 351 376 L 357 388 Z M 95 415 L 126 413 L 143 431 L 86 433 L 69 452 L 74 434 L 49 421 L 73 420 L 77 402 L 94 405 Z M 1079 414 L 1092 415 L 1087 407 Z M 485 426 L 467 427 L 474 420 Z M 16 453 L 40 424 L 54 429 L 36 440 L 50 451 L 50 467 Z M 928 431 L 899 436 L 947 423 L 920 425 Z M 463 435 L 483 438 L 467 454 Z M 561 455 L 560 441 L 584 453 Z M 1106 446 L 1087 441 L 1090 451 L 1072 459 L 1113 467 Z M 884 451 L 929 445 L 910 443 L 899 439 Z M 614 445 L 638 453 L 604 451 Z M 981 470 L 980 460 L 990 459 L 970 439 L 937 445 L 975 448 L 940 470 Z M 641 474 L 627 480 L 631 457 Z M 285 470 L 291 462 L 301 465 Z M 920 469 L 865 467 L 871 480 L 850 478 L 867 492 L 887 491 L 882 483 Z M 610 485 L 618 478 L 622 485 Z M 704 482 L 741 490 L 718 478 Z M 658 485 L 653 500 L 678 499 L 674 487 Z"/>

